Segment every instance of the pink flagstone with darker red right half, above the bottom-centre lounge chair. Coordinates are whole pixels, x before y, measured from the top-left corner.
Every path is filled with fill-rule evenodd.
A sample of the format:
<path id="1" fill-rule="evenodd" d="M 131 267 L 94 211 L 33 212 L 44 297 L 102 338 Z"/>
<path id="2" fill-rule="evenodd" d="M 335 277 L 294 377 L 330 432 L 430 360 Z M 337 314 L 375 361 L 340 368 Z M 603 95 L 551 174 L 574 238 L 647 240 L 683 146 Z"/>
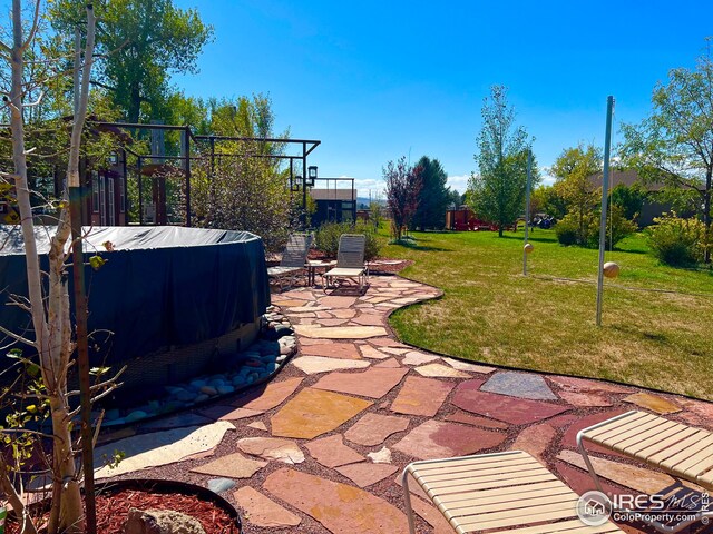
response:
<path id="1" fill-rule="evenodd" d="M 500 445 L 507 434 L 459 423 L 427 421 L 413 428 L 393 448 L 418 459 L 465 456 Z"/>

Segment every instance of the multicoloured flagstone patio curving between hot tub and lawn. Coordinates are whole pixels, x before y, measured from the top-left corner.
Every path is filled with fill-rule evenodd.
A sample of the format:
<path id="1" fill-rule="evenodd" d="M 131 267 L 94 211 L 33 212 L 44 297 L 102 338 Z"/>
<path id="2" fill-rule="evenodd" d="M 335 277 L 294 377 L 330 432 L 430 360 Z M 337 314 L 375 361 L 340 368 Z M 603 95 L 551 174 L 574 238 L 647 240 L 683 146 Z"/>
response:
<path id="1" fill-rule="evenodd" d="M 408 532 L 398 473 L 414 459 L 525 449 L 582 494 L 593 484 L 576 452 L 580 428 L 634 408 L 713 428 L 711 403 L 498 369 L 398 342 L 388 315 L 439 295 L 397 276 L 372 277 L 359 297 L 312 288 L 275 295 L 300 350 L 271 384 L 138 426 L 135 436 L 98 454 L 129 453 L 119 466 L 123 478 L 204 486 L 234 479 L 223 496 L 238 505 L 248 533 L 391 534 Z M 174 434 L 179 442 L 166 443 Z M 616 455 L 593 456 L 613 492 L 671 483 Z M 452 532 L 426 501 L 417 496 L 413 506 L 420 533 Z"/>

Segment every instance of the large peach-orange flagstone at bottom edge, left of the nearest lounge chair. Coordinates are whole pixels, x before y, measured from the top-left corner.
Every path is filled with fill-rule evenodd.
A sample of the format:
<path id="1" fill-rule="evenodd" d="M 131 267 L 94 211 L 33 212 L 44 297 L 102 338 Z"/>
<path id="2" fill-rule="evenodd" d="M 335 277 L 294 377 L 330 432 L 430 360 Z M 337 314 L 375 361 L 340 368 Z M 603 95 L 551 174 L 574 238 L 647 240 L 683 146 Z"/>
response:
<path id="1" fill-rule="evenodd" d="M 280 469 L 263 487 L 332 533 L 393 534 L 403 532 L 407 524 L 406 515 L 382 498 L 306 473 Z"/>

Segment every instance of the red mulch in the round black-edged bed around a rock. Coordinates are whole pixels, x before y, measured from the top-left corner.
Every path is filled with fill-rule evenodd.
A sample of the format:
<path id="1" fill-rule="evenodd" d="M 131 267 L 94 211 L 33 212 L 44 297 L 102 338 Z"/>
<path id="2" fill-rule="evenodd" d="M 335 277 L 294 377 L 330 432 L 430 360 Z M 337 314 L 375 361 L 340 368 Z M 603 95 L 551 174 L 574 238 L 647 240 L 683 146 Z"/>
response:
<path id="1" fill-rule="evenodd" d="M 148 493 L 121 490 L 97 495 L 97 532 L 124 534 L 129 508 L 173 510 L 201 522 L 206 534 L 240 534 L 233 518 L 215 504 L 178 493 Z M 18 525 L 9 518 L 8 534 L 17 534 Z"/>

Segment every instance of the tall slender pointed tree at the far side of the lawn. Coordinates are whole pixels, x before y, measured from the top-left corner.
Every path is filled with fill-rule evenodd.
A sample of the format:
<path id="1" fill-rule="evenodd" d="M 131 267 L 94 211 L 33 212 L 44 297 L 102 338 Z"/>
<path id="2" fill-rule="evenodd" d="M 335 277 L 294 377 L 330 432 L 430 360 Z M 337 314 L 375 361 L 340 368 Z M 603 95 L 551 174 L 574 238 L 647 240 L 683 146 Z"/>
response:
<path id="1" fill-rule="evenodd" d="M 515 111 L 508 107 L 505 87 L 492 87 L 490 97 L 484 99 L 481 113 L 484 125 L 475 156 L 479 174 L 468 181 L 468 199 L 478 217 L 496 224 L 502 237 L 504 228 L 525 211 L 531 139 L 525 128 L 515 126 Z M 533 176 L 538 175 L 535 171 Z"/>

